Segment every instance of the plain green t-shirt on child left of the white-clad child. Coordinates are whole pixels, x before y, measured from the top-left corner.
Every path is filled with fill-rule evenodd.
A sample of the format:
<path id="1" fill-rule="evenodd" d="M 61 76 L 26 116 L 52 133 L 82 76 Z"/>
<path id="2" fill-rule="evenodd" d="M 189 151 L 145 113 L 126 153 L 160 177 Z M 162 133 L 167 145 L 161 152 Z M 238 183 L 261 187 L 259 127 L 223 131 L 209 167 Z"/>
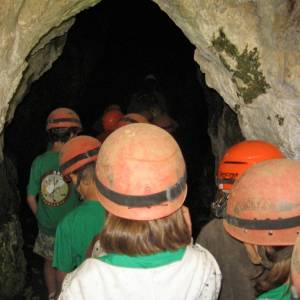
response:
<path id="1" fill-rule="evenodd" d="M 86 200 L 70 212 L 56 230 L 53 267 L 71 272 L 86 258 L 87 249 L 105 222 L 106 213 L 96 200 Z"/>

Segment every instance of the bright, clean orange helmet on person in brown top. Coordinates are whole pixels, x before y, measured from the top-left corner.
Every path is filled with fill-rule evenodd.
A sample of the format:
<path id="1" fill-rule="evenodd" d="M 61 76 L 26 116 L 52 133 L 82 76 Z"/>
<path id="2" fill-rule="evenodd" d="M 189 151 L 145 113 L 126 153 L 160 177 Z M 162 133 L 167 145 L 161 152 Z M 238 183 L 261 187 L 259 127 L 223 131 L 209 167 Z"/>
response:
<path id="1" fill-rule="evenodd" d="M 248 140 L 233 145 L 219 164 L 219 189 L 231 190 L 235 180 L 250 166 L 274 158 L 284 158 L 284 155 L 276 146 L 265 141 Z"/>

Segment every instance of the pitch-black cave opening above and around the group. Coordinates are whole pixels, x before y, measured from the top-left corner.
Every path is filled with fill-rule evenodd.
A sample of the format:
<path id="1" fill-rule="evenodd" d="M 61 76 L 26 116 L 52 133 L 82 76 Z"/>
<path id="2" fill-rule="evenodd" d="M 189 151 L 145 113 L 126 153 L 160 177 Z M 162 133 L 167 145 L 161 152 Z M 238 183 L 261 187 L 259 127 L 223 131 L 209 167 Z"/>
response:
<path id="1" fill-rule="evenodd" d="M 103 0 L 76 16 L 62 55 L 33 83 L 5 129 L 4 150 L 19 175 L 28 250 L 32 250 L 37 229 L 32 229 L 34 218 L 25 204 L 26 185 L 33 159 L 46 150 L 49 112 L 61 106 L 74 109 L 84 133 L 90 134 L 109 104 L 119 104 L 126 111 L 130 96 L 148 74 L 157 78 L 168 112 L 179 124 L 178 141 L 188 172 L 186 205 L 194 237 L 211 218 L 215 157 L 208 136 L 212 109 L 207 102 L 213 98 L 220 107 L 223 101 L 205 86 L 194 50 L 174 22 L 149 0 Z"/>

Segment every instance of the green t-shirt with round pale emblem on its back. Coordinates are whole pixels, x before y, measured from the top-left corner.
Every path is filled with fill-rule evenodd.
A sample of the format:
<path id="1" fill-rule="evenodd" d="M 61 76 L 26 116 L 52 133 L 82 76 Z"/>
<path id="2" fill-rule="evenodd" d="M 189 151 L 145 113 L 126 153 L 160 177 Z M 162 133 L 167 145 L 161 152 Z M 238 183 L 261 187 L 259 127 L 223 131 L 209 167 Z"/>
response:
<path id="1" fill-rule="evenodd" d="M 27 195 L 38 195 L 36 218 L 39 230 L 55 235 L 57 224 L 78 206 L 79 194 L 59 172 L 59 152 L 47 151 L 33 161 Z"/>

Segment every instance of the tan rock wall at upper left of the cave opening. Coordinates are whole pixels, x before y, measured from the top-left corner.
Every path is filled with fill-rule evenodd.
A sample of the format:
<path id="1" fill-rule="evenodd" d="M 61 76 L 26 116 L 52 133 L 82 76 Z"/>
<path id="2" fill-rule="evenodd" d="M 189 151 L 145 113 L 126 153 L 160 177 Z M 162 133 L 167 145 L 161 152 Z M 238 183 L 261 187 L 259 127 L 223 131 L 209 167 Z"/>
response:
<path id="1" fill-rule="evenodd" d="M 31 82 L 61 54 L 72 17 L 99 1 L 1 1 L 0 133 Z"/>

